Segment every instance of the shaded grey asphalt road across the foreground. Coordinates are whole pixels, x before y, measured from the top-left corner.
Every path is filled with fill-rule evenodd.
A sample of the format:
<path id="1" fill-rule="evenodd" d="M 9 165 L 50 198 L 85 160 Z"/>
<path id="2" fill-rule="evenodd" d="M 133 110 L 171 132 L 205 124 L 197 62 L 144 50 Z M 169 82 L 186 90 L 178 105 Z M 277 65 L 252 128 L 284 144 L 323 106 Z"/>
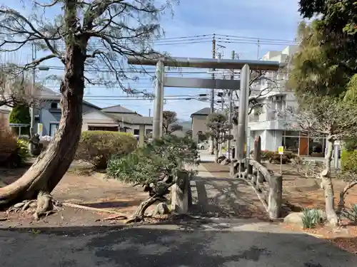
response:
<path id="1" fill-rule="evenodd" d="M 4 267 L 356 267 L 357 256 L 268 223 L 0 231 Z"/>

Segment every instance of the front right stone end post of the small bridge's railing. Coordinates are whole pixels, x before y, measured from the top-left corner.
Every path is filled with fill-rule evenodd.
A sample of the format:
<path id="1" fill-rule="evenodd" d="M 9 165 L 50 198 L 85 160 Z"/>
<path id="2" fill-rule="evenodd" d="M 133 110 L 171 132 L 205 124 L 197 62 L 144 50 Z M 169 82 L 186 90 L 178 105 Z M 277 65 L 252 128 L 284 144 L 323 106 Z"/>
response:
<path id="1" fill-rule="evenodd" d="M 269 198 L 268 209 L 269 217 L 271 219 L 278 219 L 281 217 L 281 202 L 283 194 L 283 177 L 271 176 L 269 181 Z"/>

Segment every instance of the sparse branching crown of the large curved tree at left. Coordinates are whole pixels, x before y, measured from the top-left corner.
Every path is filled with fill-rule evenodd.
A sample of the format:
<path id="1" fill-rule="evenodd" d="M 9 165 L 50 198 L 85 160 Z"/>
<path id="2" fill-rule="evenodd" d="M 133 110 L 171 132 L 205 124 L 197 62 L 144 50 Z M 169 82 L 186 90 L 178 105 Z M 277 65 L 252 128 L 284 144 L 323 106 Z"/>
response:
<path id="1" fill-rule="evenodd" d="M 49 18 L 44 12 L 45 9 L 62 8 L 63 1 L 33 0 L 35 9 L 30 16 L 2 6 L 0 52 L 19 51 L 29 45 L 43 52 L 41 58 L 35 58 L 22 66 L 14 66 L 16 75 L 21 77 L 24 72 L 38 68 L 49 59 L 58 58 L 65 64 L 64 48 L 71 41 L 84 52 L 85 72 L 86 68 L 91 68 L 91 75 L 86 73 L 84 78 L 87 85 L 121 88 L 130 95 L 152 98 L 152 93 L 123 82 L 138 80 L 139 75 L 146 73 L 144 68 L 134 68 L 137 73 L 128 74 L 126 57 L 162 56 L 154 51 L 152 41 L 163 34 L 160 16 L 163 11 L 171 9 L 171 3 L 175 1 L 158 5 L 153 0 L 77 0 L 73 1 L 76 14 L 70 26 L 66 26 L 65 22 L 69 18 L 63 14 Z"/>

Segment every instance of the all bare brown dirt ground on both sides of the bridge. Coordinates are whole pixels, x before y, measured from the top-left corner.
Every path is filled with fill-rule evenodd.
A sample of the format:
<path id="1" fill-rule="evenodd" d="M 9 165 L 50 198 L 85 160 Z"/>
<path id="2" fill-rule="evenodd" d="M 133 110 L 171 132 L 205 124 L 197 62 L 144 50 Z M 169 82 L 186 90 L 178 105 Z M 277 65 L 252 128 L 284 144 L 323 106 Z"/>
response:
<path id="1" fill-rule="evenodd" d="M 208 172 L 214 177 L 227 178 L 229 170 L 227 166 L 214 163 L 203 163 Z M 267 167 L 274 172 L 279 172 L 278 164 L 267 164 Z M 18 179 L 23 169 L 0 169 L 0 187 L 5 186 Z M 88 207 L 112 210 L 123 215 L 130 216 L 140 204 L 148 197 L 141 187 L 132 187 L 113 179 L 104 179 L 104 174 L 78 174 L 78 167 L 72 167 L 53 192 L 59 201 L 66 201 L 72 204 L 81 204 Z M 338 192 L 343 189 L 344 183 L 334 179 L 336 200 Z M 291 211 L 301 211 L 305 207 L 324 209 L 324 197 L 322 189 L 319 187 L 318 179 L 306 179 L 300 177 L 291 165 L 283 165 L 283 199 Z M 346 205 L 357 204 L 357 187 L 351 189 L 346 197 Z M 246 218 L 266 219 L 261 211 L 260 203 L 252 203 L 244 206 L 240 214 Z M 151 206 L 148 212 L 151 212 Z M 86 211 L 65 207 L 64 210 L 52 214 L 40 221 L 34 221 L 31 214 L 12 213 L 7 215 L 0 212 L 0 228 L 23 228 L 23 227 L 58 227 L 58 226 L 108 226 L 121 225 L 124 221 L 104 220 L 113 216 L 106 212 Z M 303 230 L 317 237 L 328 239 L 336 246 L 352 253 L 357 251 L 357 226 L 344 221 L 339 229 L 331 229 L 328 226 L 318 226 L 314 229 Z M 287 227 L 287 226 L 284 226 Z"/>

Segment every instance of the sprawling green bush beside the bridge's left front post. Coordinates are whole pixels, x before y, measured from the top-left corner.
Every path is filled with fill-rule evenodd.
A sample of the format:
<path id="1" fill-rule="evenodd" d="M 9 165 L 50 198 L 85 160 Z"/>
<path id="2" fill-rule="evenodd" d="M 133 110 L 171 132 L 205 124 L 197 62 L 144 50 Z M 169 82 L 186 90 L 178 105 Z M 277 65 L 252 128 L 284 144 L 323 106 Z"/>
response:
<path id="1" fill-rule="evenodd" d="M 154 140 L 145 147 L 139 147 L 130 155 L 113 157 L 109 161 L 106 174 L 121 182 L 150 187 L 151 189 L 146 191 L 156 192 L 155 188 L 163 175 L 172 179 L 184 164 L 195 164 L 198 151 L 192 144 L 187 137 L 165 136 L 162 140 Z M 165 184 L 166 186 L 168 185 Z"/>

